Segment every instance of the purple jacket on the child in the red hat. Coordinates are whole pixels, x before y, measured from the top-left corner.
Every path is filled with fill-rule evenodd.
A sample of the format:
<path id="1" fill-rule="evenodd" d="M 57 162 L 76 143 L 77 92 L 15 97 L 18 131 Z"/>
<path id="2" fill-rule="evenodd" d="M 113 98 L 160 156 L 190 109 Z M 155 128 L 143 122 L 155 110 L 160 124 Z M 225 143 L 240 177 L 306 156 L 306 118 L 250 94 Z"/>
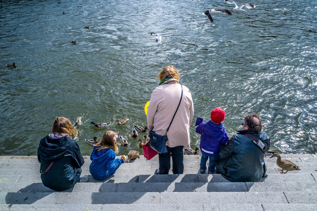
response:
<path id="1" fill-rule="evenodd" d="M 208 157 L 218 156 L 221 146 L 227 144 L 229 139 L 223 124 L 215 124 L 211 120 L 203 122 L 203 118 L 196 119 L 196 132 L 200 136 L 200 151 Z"/>

